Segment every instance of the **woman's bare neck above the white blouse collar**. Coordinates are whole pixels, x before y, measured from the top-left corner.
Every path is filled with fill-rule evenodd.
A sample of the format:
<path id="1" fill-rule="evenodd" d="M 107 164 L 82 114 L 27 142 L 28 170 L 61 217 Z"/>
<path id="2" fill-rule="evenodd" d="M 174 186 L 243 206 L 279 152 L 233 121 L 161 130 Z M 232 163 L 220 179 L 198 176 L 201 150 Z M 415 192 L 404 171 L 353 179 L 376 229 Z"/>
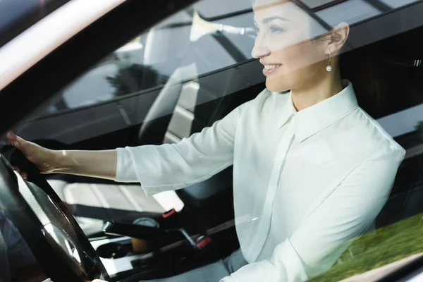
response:
<path id="1" fill-rule="evenodd" d="M 343 90 L 341 74 L 336 72 L 308 80 L 301 87 L 291 90 L 291 95 L 295 109 L 301 111 L 338 94 L 341 90 Z"/>

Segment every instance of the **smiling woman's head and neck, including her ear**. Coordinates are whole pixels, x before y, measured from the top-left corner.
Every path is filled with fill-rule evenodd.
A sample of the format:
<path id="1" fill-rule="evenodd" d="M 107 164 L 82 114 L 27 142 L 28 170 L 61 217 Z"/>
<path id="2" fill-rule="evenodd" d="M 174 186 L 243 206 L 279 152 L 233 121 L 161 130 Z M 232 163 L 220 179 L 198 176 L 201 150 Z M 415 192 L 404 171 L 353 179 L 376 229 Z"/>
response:
<path id="1" fill-rule="evenodd" d="M 293 2 L 269 0 L 255 1 L 255 23 L 259 32 L 252 55 L 264 65 L 267 89 L 291 90 L 297 109 L 310 106 L 302 99 L 317 103 L 341 91 L 338 54 L 348 39 L 348 24 L 325 32 Z M 329 92 L 319 91 L 323 97 L 309 93 L 319 88 Z"/>

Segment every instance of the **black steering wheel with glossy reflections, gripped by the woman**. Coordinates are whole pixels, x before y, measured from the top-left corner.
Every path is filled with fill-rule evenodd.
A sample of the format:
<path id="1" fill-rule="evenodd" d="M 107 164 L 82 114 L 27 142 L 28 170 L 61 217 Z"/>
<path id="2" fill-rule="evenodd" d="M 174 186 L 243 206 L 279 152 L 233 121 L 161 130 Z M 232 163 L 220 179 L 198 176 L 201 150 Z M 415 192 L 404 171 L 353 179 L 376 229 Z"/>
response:
<path id="1" fill-rule="evenodd" d="M 25 181 L 11 164 L 25 171 Z M 46 178 L 11 146 L 0 153 L 0 209 L 18 228 L 53 281 L 110 280 L 87 236 Z"/>

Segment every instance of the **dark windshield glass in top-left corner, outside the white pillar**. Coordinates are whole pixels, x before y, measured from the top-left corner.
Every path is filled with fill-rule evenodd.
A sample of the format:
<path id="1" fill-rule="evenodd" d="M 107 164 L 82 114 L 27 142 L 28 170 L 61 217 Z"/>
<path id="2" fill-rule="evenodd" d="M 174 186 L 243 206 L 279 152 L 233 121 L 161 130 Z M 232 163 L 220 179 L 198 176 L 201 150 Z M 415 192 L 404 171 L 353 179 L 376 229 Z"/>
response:
<path id="1" fill-rule="evenodd" d="M 3 0 L 0 1 L 0 47 L 31 25 L 37 23 L 68 0 Z"/>

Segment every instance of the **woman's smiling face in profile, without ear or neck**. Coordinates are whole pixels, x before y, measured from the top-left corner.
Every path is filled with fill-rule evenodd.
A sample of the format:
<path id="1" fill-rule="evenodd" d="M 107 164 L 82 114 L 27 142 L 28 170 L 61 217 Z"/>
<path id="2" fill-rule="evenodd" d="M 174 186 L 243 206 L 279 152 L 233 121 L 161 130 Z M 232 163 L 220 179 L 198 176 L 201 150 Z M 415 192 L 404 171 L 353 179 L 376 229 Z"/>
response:
<path id="1" fill-rule="evenodd" d="M 323 34 L 323 27 L 289 1 L 256 0 L 254 10 L 259 32 L 252 56 L 264 65 L 269 90 L 312 85 L 325 75 L 328 44 L 310 40 Z"/>

